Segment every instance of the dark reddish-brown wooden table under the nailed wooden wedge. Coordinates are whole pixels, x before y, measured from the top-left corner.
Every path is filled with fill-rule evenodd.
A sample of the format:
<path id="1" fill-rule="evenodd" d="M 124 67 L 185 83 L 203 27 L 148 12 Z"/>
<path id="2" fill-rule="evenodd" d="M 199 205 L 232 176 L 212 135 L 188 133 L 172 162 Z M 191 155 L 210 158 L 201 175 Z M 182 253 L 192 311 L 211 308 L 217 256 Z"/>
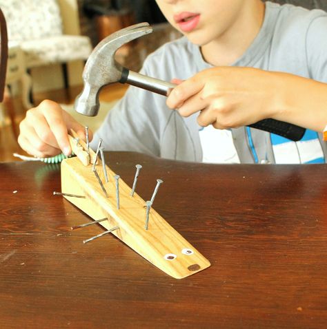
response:
<path id="1" fill-rule="evenodd" d="M 0 328 L 327 328 L 327 166 L 108 165 L 212 266 L 161 272 L 61 197 L 59 166 L 0 164 Z M 13 193 L 17 191 L 17 193 Z"/>

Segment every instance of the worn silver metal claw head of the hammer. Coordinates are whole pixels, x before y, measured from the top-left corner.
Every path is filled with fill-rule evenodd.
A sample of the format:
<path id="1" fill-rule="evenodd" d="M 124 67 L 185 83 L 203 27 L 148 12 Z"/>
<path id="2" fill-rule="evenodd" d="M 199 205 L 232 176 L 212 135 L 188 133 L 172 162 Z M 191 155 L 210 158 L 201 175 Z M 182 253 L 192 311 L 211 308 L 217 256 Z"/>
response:
<path id="1" fill-rule="evenodd" d="M 115 53 L 125 43 L 152 32 L 148 23 L 131 25 L 103 39 L 92 51 L 83 70 L 83 91 L 75 100 L 75 110 L 85 116 L 99 112 L 99 92 L 110 83 L 121 80 L 123 67 L 115 61 Z"/>

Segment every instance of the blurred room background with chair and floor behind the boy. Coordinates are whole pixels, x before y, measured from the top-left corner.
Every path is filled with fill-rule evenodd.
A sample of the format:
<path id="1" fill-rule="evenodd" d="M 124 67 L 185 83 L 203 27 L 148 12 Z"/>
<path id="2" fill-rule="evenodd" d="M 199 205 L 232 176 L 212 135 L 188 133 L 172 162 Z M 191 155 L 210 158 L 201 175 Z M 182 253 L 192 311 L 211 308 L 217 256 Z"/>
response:
<path id="1" fill-rule="evenodd" d="M 278 0 L 327 10 L 326 0 Z M 128 86 L 114 84 L 101 91 L 96 118 L 75 113 L 72 104 L 82 89 L 81 74 L 92 48 L 104 37 L 147 21 L 152 34 L 117 52 L 117 61 L 138 71 L 148 54 L 181 34 L 161 14 L 155 0 L 0 0 L 8 29 L 5 97 L 0 104 L 0 162 L 25 154 L 17 143 L 26 110 L 43 99 L 55 100 L 81 123 L 97 129 Z"/>

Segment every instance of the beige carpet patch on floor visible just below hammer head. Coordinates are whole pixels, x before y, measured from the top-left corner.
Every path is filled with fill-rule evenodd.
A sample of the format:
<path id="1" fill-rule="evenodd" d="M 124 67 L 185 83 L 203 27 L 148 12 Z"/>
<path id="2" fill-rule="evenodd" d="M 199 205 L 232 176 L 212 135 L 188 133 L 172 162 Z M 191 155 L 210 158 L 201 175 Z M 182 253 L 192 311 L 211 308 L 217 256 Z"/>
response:
<path id="1" fill-rule="evenodd" d="M 104 118 L 106 118 L 106 115 L 108 114 L 110 109 L 115 106 L 116 103 L 117 100 L 109 103 L 101 102 L 99 113 L 97 116 L 83 116 L 82 114 L 79 114 L 75 111 L 74 105 L 72 104 L 61 104 L 60 106 L 73 118 L 75 118 L 78 123 L 83 126 L 88 126 L 93 132 L 95 132 L 101 126 L 101 123 L 103 123 Z"/>

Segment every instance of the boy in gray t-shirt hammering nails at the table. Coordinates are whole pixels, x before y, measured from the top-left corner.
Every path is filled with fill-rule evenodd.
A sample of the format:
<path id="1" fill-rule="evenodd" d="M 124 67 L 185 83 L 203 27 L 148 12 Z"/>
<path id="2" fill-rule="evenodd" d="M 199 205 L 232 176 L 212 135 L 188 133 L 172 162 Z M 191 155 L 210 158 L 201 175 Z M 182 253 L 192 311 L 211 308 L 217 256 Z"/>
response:
<path id="1" fill-rule="evenodd" d="M 179 85 L 167 99 L 130 87 L 93 147 L 103 138 L 107 150 L 176 160 L 326 162 L 326 142 L 315 132 L 327 123 L 326 12 L 260 0 L 157 3 L 185 36 L 148 56 L 142 72 Z M 315 131 L 295 143 L 244 127 L 263 118 Z M 19 144 L 35 156 L 70 153 L 70 128 L 84 137 L 83 127 L 45 101 L 28 111 Z"/>

